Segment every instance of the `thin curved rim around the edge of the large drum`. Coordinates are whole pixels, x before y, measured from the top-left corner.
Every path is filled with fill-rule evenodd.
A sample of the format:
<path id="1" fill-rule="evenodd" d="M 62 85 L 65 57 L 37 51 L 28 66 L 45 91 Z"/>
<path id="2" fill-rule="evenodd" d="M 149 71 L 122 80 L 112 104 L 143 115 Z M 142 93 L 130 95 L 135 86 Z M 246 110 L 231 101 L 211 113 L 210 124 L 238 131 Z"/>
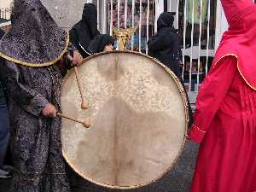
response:
<path id="1" fill-rule="evenodd" d="M 89 181 L 90 183 L 95 183 L 98 186 L 102 186 L 102 187 L 105 187 L 105 188 L 108 188 L 108 189 L 137 189 L 137 188 L 145 187 L 145 186 L 147 186 L 151 183 L 157 182 L 161 177 L 164 177 L 167 172 L 170 172 L 175 165 L 177 165 L 177 161 L 180 158 L 181 154 L 183 153 L 183 149 L 184 149 L 185 143 L 187 141 L 187 131 L 188 131 L 188 126 L 189 126 L 189 104 L 188 104 L 189 102 L 186 99 L 186 93 L 185 93 L 185 90 L 183 89 L 183 85 L 179 81 L 179 79 L 177 78 L 175 73 L 173 73 L 172 70 L 170 68 L 166 67 L 163 63 L 161 63 L 160 61 L 158 61 L 157 59 L 155 59 L 155 58 L 153 58 L 149 55 L 145 55 L 143 53 L 136 52 L 136 51 L 131 51 L 131 50 L 105 51 L 105 52 L 102 52 L 102 53 L 97 53 L 95 55 L 90 55 L 89 57 L 86 57 L 83 60 L 83 63 L 81 65 L 86 64 L 86 61 L 90 61 L 91 59 L 93 59 L 93 58 L 95 58 L 99 55 L 117 54 L 117 53 L 128 53 L 128 54 L 143 55 L 144 57 L 147 57 L 148 59 L 155 61 L 161 67 L 164 67 L 166 72 L 169 73 L 170 76 L 172 77 L 172 79 L 175 81 L 175 83 L 177 85 L 177 90 L 179 90 L 179 93 L 182 96 L 183 106 L 184 106 L 184 109 L 185 109 L 185 134 L 184 134 L 182 147 L 179 149 L 177 157 L 175 158 L 175 160 L 173 160 L 172 165 L 168 166 L 168 168 L 166 169 L 165 172 L 163 172 L 162 174 L 160 174 L 157 177 L 154 177 L 154 179 L 152 179 L 151 181 L 141 183 L 141 184 L 137 184 L 137 185 L 131 185 L 131 186 L 116 186 L 116 185 L 110 185 L 110 184 L 107 184 L 107 183 L 98 182 L 95 179 L 92 179 L 92 178 L 86 176 L 84 173 L 79 172 L 79 170 L 76 168 L 76 166 L 74 166 L 73 163 L 70 160 L 68 160 L 67 153 L 64 151 L 64 148 L 62 148 L 62 155 L 63 155 L 64 159 L 67 161 L 67 164 L 69 166 L 71 166 L 73 171 L 76 172 L 77 174 L 79 174 L 80 177 L 83 177 L 85 180 Z M 64 82 L 65 82 L 65 80 L 63 81 L 63 83 Z M 62 140 L 61 140 L 61 142 L 62 142 Z"/>

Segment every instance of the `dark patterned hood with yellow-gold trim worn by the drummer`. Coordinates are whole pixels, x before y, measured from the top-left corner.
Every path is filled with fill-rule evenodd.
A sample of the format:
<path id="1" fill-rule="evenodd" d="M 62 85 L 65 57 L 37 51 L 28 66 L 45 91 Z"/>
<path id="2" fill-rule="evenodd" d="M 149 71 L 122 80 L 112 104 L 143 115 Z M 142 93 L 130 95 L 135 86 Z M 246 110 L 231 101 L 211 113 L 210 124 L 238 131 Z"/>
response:
<path id="1" fill-rule="evenodd" d="M 67 50 L 67 32 L 59 28 L 40 0 L 15 0 L 14 24 L 0 41 L 9 61 L 40 67 L 59 60 Z"/>

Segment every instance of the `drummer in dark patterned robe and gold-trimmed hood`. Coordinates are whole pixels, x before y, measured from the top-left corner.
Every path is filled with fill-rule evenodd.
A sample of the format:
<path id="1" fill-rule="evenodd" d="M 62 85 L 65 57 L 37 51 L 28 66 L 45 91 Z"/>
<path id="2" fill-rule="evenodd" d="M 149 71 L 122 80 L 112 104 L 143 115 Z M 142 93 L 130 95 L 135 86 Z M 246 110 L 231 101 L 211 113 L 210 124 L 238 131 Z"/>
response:
<path id="1" fill-rule="evenodd" d="M 10 192 L 69 192 L 61 119 L 54 118 L 61 112 L 62 74 L 57 65 L 70 64 L 67 53 L 73 53 L 67 32 L 40 0 L 15 0 L 13 25 L 0 41 L 5 59 L 0 77 L 7 88 L 15 166 Z"/>

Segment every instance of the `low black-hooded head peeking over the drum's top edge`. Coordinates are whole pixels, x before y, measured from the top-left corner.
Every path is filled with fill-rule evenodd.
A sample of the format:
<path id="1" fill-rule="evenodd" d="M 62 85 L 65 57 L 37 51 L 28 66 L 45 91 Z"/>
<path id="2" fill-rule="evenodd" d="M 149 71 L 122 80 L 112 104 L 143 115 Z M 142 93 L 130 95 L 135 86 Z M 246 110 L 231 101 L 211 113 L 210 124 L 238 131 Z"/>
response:
<path id="1" fill-rule="evenodd" d="M 92 54 L 100 53 L 103 51 L 113 50 L 114 41 L 110 35 L 100 34 L 94 38 L 88 47 Z M 106 47 L 109 46 L 109 49 Z"/>

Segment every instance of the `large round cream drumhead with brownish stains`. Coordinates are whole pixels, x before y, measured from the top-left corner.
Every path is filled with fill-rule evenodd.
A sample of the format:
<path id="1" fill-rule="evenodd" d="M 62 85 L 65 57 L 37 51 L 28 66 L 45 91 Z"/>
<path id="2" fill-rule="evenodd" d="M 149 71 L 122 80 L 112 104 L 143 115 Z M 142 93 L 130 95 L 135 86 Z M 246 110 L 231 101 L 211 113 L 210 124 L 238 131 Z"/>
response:
<path id="1" fill-rule="evenodd" d="M 104 187 L 108 187 L 112 189 L 133 189 L 133 188 L 142 187 L 149 183 L 155 182 L 157 179 L 165 175 L 166 172 L 169 172 L 171 170 L 172 166 L 177 161 L 177 157 L 179 156 L 179 154 L 181 154 L 183 149 L 187 123 L 188 123 L 188 108 L 187 108 L 186 96 L 184 94 L 182 84 L 180 84 L 177 77 L 166 67 L 163 67 L 160 64 L 160 62 L 155 61 L 154 59 L 148 57 L 147 55 L 128 52 L 128 51 L 114 51 L 112 53 L 103 53 L 99 55 L 93 55 L 84 61 L 83 66 L 79 67 L 79 76 L 82 77 L 81 79 L 83 81 L 83 89 L 84 89 L 83 91 L 84 91 L 85 97 L 88 98 L 88 101 L 90 103 L 90 109 L 88 111 L 82 111 L 81 109 L 79 109 L 79 90 L 78 88 L 75 87 L 75 82 L 73 82 L 73 80 L 70 80 L 70 79 L 74 79 L 73 73 L 71 73 L 67 75 L 67 79 L 64 81 L 64 84 L 63 84 L 63 90 L 62 90 L 62 96 L 61 96 L 63 113 L 73 114 L 78 119 L 90 119 L 92 121 L 91 132 L 93 132 L 94 129 L 103 130 L 103 127 L 113 127 L 112 125 L 113 121 L 118 121 L 119 127 L 123 128 L 121 133 L 126 131 L 125 135 L 127 136 L 129 135 L 131 129 L 133 129 L 134 126 L 138 127 L 138 130 L 144 130 L 144 132 L 141 133 L 142 135 L 141 138 L 134 139 L 132 143 L 129 143 L 129 141 L 128 142 L 124 141 L 125 139 L 119 135 L 120 133 L 117 133 L 119 132 L 119 129 L 118 131 L 115 130 L 114 134 L 117 134 L 119 138 L 122 138 L 122 139 L 119 139 L 121 141 L 121 144 L 118 143 L 118 145 L 114 145 L 114 146 L 122 147 L 121 150 L 115 149 L 115 151 L 119 151 L 119 154 L 121 155 L 118 154 L 118 157 L 115 159 L 117 160 L 115 161 L 115 165 L 109 164 L 109 162 L 111 162 L 112 164 L 112 161 L 114 161 L 114 160 L 111 160 L 112 157 L 109 157 L 110 158 L 110 160 L 108 160 L 109 162 L 105 164 L 107 166 L 100 165 L 102 166 L 100 171 L 103 172 L 106 167 L 112 166 L 113 170 L 110 170 L 109 172 L 113 172 L 113 171 L 115 172 L 116 170 L 114 169 L 116 169 L 116 165 L 119 165 L 119 164 L 128 165 L 131 163 L 132 160 L 136 161 L 139 159 L 141 160 L 142 165 L 148 161 L 149 162 L 148 165 L 150 165 L 151 167 L 151 165 L 153 164 L 158 164 L 157 162 L 158 158 L 162 158 L 162 159 L 165 159 L 165 160 L 162 160 L 162 162 L 165 162 L 166 166 L 160 167 L 161 171 L 159 172 L 157 169 L 155 169 L 156 171 L 153 170 L 152 171 L 153 174 L 154 172 L 156 173 L 152 177 L 150 175 L 152 174 L 152 172 L 149 172 L 149 174 L 147 173 L 148 177 L 145 179 L 144 178 L 141 179 L 141 181 L 139 181 L 138 183 L 136 182 L 137 180 L 139 180 L 138 179 L 139 177 L 137 176 L 133 177 L 134 172 L 127 173 L 126 171 L 124 171 L 124 173 L 122 173 L 123 175 L 119 174 L 119 177 L 121 179 L 124 179 L 124 180 L 126 178 L 129 178 L 130 180 L 133 179 L 131 183 L 130 181 L 128 181 L 129 179 L 126 179 L 127 181 L 125 180 L 125 182 L 120 181 L 118 183 L 114 183 L 114 182 L 111 183 L 112 181 L 111 179 L 108 180 L 108 173 L 106 172 L 103 172 L 103 174 L 107 175 L 107 180 L 106 178 L 102 178 L 102 180 L 100 178 L 99 180 L 97 180 L 97 178 L 102 177 L 101 175 L 97 175 L 93 178 L 89 173 L 90 176 L 88 176 L 87 175 L 88 172 L 82 170 L 83 167 L 86 165 L 90 165 L 91 162 L 99 161 L 96 159 L 90 161 L 89 157 L 93 159 L 93 157 L 98 155 L 98 153 L 103 154 L 104 151 L 107 149 L 104 149 L 104 148 L 102 149 L 102 146 L 108 146 L 108 144 L 106 143 L 102 144 L 96 138 L 105 137 L 105 135 L 108 135 L 108 132 L 113 131 L 113 129 L 107 129 L 107 131 L 105 131 L 104 133 L 102 133 L 102 131 L 98 131 L 96 134 L 92 133 L 92 135 L 90 135 L 90 133 L 88 134 L 86 133 L 85 130 L 83 130 L 81 125 L 75 125 L 72 122 L 68 122 L 67 120 L 64 120 L 63 129 L 62 129 L 62 143 L 63 143 L 63 154 L 67 162 L 69 163 L 69 165 L 73 167 L 73 169 L 76 172 L 79 173 L 80 176 L 84 177 L 85 179 L 89 180 L 92 183 L 96 183 L 98 185 L 102 185 Z M 88 77 L 88 75 L 90 77 Z M 120 79 L 122 78 L 125 83 L 124 82 L 119 83 Z M 130 79 L 128 83 L 127 83 L 127 79 Z M 155 85 L 155 87 L 153 86 L 153 88 L 156 89 L 156 91 L 152 87 L 150 87 L 151 84 Z M 113 87 L 111 87 L 111 85 Z M 147 86 L 149 88 L 147 88 Z M 128 87 L 128 88 L 126 89 L 125 87 L 126 88 Z M 145 87 L 150 91 L 145 89 Z M 168 87 L 169 88 L 172 87 L 173 90 L 169 89 Z M 71 88 L 74 90 L 73 91 L 70 90 Z M 104 89 L 105 89 L 105 92 L 104 92 Z M 103 93 L 106 93 L 106 94 L 104 95 L 100 93 L 99 90 L 101 90 Z M 168 91 L 170 90 L 175 92 L 175 94 L 172 94 L 172 91 L 169 93 Z M 102 97 L 99 96 L 101 94 L 104 96 Z M 109 96 L 111 94 L 112 96 Z M 163 94 L 167 94 L 167 96 L 163 96 Z M 143 98 L 145 96 L 146 97 L 148 96 L 148 98 L 147 99 Z M 68 103 L 71 100 L 69 97 L 75 97 L 76 98 L 75 102 Z M 127 101 L 125 101 L 126 98 L 128 98 L 129 104 L 127 104 Z M 140 101 L 141 98 L 143 98 L 142 101 Z M 100 104 L 95 104 L 96 102 Z M 147 103 L 146 105 L 147 107 L 145 107 L 145 103 Z M 131 106 L 132 106 L 132 109 L 131 109 Z M 98 108 L 100 108 L 101 110 L 98 110 Z M 143 113 L 137 110 L 142 110 Z M 108 115 L 106 116 L 105 113 L 102 113 L 99 111 L 103 111 L 103 112 L 105 111 L 105 113 L 109 114 L 109 116 Z M 150 113 L 148 113 L 148 111 Z M 151 113 L 152 111 L 154 111 L 154 113 Z M 114 115 L 112 113 L 114 113 Z M 145 113 L 147 115 L 145 115 Z M 164 115 L 162 115 L 162 113 L 164 113 Z M 166 113 L 168 113 L 169 116 L 166 115 Z M 174 113 L 175 115 L 173 115 Z M 117 117 L 120 115 L 121 117 Z M 106 123 L 108 122 L 108 119 L 110 119 L 109 120 L 110 123 Z M 168 120 L 170 120 L 170 123 L 168 122 Z M 123 121 L 125 121 L 125 123 Z M 170 131 L 169 129 L 172 129 L 172 131 Z M 179 131 L 179 132 L 175 133 L 175 131 Z M 76 133 L 76 132 L 79 132 L 79 133 Z M 73 150 L 74 148 L 70 147 L 70 142 L 73 139 L 78 138 L 76 134 L 78 136 L 87 134 L 87 138 L 86 139 L 84 138 L 84 140 L 86 141 L 89 141 L 91 137 L 95 138 L 90 140 L 89 143 L 83 143 L 83 142 L 76 143 L 77 146 L 79 145 L 87 146 L 85 147 L 86 148 L 85 150 L 81 148 L 79 149 L 80 151 L 84 150 L 84 152 L 81 152 L 81 154 L 87 154 L 87 156 L 82 155 L 83 156 L 82 158 L 72 157 L 73 152 L 71 152 L 71 150 Z M 146 138 L 155 137 L 154 135 L 158 136 L 158 134 L 161 137 L 163 137 L 158 141 L 153 138 L 150 138 L 149 141 L 147 141 L 147 139 L 143 140 L 144 137 Z M 72 135 L 73 137 L 70 137 Z M 134 135 L 136 134 L 133 134 L 133 136 L 131 137 L 134 137 Z M 177 138 L 179 138 L 178 141 L 177 141 Z M 112 141 L 113 137 L 108 137 L 108 139 Z M 143 142 L 140 142 L 140 140 L 143 140 Z M 173 140 L 173 142 L 169 142 L 168 140 Z M 89 148 L 95 148 L 96 143 L 100 143 L 100 147 L 98 147 L 95 152 L 88 151 L 88 146 L 90 146 L 91 144 Z M 136 143 L 135 146 L 132 146 L 133 143 Z M 151 146 L 146 148 L 141 148 L 141 146 L 143 146 L 144 143 L 147 143 Z M 163 146 L 160 146 L 162 145 L 162 143 L 165 143 L 165 144 L 163 144 Z M 165 147 L 167 145 L 169 146 L 170 144 L 172 145 L 172 143 L 174 143 L 172 147 L 170 148 Z M 113 143 L 111 143 L 111 145 L 113 145 Z M 127 149 L 127 146 L 132 148 L 131 153 L 129 152 L 130 149 L 129 148 Z M 159 148 L 159 146 L 161 149 Z M 157 151 L 156 154 L 154 154 L 153 152 L 151 153 L 150 151 L 149 153 L 147 152 L 150 148 L 154 148 L 154 147 L 157 149 L 157 150 L 153 150 L 154 153 L 155 151 Z M 121 157 L 119 156 L 125 155 L 122 152 L 124 148 L 126 150 L 126 154 L 129 154 L 129 153 L 132 155 L 136 154 L 133 152 L 137 151 L 138 150 L 137 148 L 140 148 L 141 151 L 137 152 L 136 154 L 138 155 L 137 157 L 128 157 L 130 161 L 119 160 L 121 159 Z M 79 151 L 78 149 L 76 150 Z M 169 155 L 169 156 L 162 155 L 162 154 L 169 154 L 172 151 L 175 151 L 173 155 Z M 112 152 L 110 151 L 109 153 L 112 153 Z M 142 155 L 143 157 L 139 157 L 140 154 L 143 154 Z M 88 160 L 84 160 L 87 158 Z M 81 164 L 83 164 L 84 166 L 83 167 L 78 166 L 79 161 L 77 161 L 76 159 L 79 159 L 80 162 L 83 161 L 83 163 Z M 105 156 L 99 159 L 104 160 L 104 159 L 108 159 L 108 157 Z M 169 159 L 170 159 L 170 162 L 168 162 Z M 122 162 L 120 163 L 119 161 L 122 161 Z M 160 162 L 159 164 L 162 164 L 162 162 Z M 135 164 L 136 163 L 137 161 L 135 162 Z M 137 166 L 136 169 L 140 169 L 141 164 L 138 164 L 139 166 Z M 120 169 L 125 170 L 124 167 L 121 167 Z M 157 165 L 156 167 L 159 167 L 159 166 Z M 129 169 L 131 169 L 131 166 L 129 167 Z M 144 172 L 145 170 L 147 171 L 147 166 L 142 168 L 140 171 Z M 99 170 L 97 171 L 100 172 Z M 143 173 L 142 175 L 144 176 L 147 174 Z"/>

